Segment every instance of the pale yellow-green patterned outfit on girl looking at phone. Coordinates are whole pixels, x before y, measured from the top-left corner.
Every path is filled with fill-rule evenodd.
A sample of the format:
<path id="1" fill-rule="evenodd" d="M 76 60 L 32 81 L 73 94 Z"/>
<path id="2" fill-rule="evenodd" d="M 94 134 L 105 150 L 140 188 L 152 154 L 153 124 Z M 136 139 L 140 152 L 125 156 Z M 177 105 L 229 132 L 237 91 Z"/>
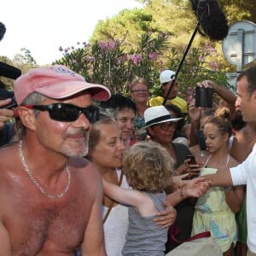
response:
<path id="1" fill-rule="evenodd" d="M 230 157 L 227 164 L 229 160 Z M 217 172 L 215 168 L 201 168 L 201 175 L 215 172 Z M 211 236 L 215 238 L 222 252 L 227 251 L 232 243 L 236 244 L 236 216 L 226 202 L 224 188 L 208 189 L 207 193 L 200 197 L 195 204 L 191 235 L 194 236 L 204 231 L 211 232 Z"/>

